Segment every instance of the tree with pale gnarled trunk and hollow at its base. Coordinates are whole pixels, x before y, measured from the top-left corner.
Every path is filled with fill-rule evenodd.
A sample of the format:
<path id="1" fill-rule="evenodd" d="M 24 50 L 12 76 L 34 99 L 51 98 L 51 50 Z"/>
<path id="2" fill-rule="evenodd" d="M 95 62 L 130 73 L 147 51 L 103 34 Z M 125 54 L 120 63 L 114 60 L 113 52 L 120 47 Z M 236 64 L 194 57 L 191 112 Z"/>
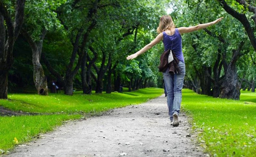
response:
<path id="1" fill-rule="evenodd" d="M 27 0 L 25 22 L 21 33 L 32 49 L 34 83 L 38 94 L 48 95 L 47 79 L 40 64 L 43 41 L 46 33 L 61 27 L 55 10 L 65 0 Z"/>

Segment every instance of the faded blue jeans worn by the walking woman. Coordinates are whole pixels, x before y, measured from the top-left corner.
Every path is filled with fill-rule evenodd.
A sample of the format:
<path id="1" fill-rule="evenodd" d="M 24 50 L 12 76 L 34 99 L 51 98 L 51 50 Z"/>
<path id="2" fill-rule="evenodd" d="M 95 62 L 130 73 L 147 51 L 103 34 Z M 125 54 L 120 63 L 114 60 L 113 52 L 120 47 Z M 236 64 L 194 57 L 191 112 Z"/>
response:
<path id="1" fill-rule="evenodd" d="M 180 73 L 178 74 L 170 74 L 169 68 L 163 73 L 164 75 L 164 83 L 167 92 L 167 105 L 169 109 L 170 120 L 173 120 L 172 115 L 174 113 L 180 113 L 180 104 L 182 98 L 182 87 L 183 81 L 186 73 L 185 63 L 179 62 L 178 67 L 180 68 Z"/>

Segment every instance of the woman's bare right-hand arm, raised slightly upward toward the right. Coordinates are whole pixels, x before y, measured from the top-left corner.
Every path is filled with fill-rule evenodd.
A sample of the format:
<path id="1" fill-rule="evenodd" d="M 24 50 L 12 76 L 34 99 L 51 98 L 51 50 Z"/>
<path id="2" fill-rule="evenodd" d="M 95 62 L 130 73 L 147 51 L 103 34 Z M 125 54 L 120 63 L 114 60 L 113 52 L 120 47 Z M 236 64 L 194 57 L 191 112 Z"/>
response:
<path id="1" fill-rule="evenodd" d="M 222 18 L 219 18 L 213 22 L 209 22 L 209 23 L 206 23 L 206 24 L 199 24 L 197 26 L 192 26 L 192 27 L 179 27 L 178 28 L 178 31 L 183 34 L 183 33 L 189 33 L 189 32 L 192 32 L 192 31 L 197 31 L 197 30 L 200 30 L 200 29 L 204 29 L 208 26 L 212 26 L 214 24 L 217 24 L 218 22 L 220 22 L 221 20 L 223 19 Z"/>

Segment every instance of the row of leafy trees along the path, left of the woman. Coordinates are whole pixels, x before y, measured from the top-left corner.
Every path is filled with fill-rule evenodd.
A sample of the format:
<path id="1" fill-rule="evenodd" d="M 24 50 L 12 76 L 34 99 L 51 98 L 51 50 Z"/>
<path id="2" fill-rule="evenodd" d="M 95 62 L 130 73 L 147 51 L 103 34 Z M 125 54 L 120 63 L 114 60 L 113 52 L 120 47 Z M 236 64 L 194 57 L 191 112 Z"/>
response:
<path id="1" fill-rule="evenodd" d="M 7 98 L 8 73 L 15 61 L 13 48 L 20 49 L 21 44 L 29 45 L 32 51 L 33 81 L 38 94 L 48 94 L 49 80 L 63 84 L 68 95 L 73 94 L 76 78 L 84 94 L 90 94 L 92 89 L 110 93 L 123 84 L 129 90 L 156 84 L 155 54 L 147 53 L 134 61 L 126 61 L 126 56 L 154 38 L 156 31 L 151 28 L 156 28 L 159 17 L 165 14 L 163 3 L 1 0 L 0 98 Z M 17 39 L 20 44 L 14 45 Z M 25 54 L 26 50 L 21 52 Z M 12 77 L 19 73 L 18 66 L 14 69 Z"/>

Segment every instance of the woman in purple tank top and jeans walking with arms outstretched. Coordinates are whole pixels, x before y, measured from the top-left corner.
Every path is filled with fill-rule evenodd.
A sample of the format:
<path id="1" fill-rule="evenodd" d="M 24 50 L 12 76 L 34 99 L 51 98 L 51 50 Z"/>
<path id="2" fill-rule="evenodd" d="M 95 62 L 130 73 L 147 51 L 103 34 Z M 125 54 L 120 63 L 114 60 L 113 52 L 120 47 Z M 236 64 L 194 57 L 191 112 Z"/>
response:
<path id="1" fill-rule="evenodd" d="M 204 29 L 208 26 L 212 26 L 220 22 L 223 18 L 219 18 L 213 22 L 209 22 L 206 24 L 199 24 L 197 26 L 192 27 L 179 27 L 176 28 L 174 22 L 172 21 L 172 17 L 169 15 L 164 15 L 160 18 L 160 23 L 157 28 L 157 32 L 159 33 L 157 37 L 151 41 L 148 45 L 143 47 L 140 51 L 128 55 L 126 59 L 134 59 L 141 55 L 142 53 L 146 52 L 148 49 L 151 49 L 154 45 L 163 41 L 164 43 L 164 53 L 167 50 L 172 50 L 174 61 L 171 63 L 166 64 L 166 69 L 163 72 L 165 88 L 167 92 L 167 105 L 169 109 L 169 115 L 171 120 L 172 126 L 178 126 L 179 120 L 178 115 L 180 114 L 180 104 L 182 99 L 182 87 L 183 81 L 185 77 L 185 61 L 182 53 L 182 37 L 181 34 L 189 33 L 192 31 L 197 31 L 200 29 Z M 167 62 L 167 56 L 165 54 L 161 55 L 161 64 L 162 62 Z M 162 57 L 164 55 L 164 57 Z M 166 56 L 166 57 L 165 57 Z M 177 60 L 176 60 L 177 59 Z M 176 64 L 175 64 L 176 63 Z M 158 67 L 159 68 L 159 67 Z M 174 70 L 173 70 L 174 69 Z M 179 73 L 177 73 L 179 70 Z"/>

